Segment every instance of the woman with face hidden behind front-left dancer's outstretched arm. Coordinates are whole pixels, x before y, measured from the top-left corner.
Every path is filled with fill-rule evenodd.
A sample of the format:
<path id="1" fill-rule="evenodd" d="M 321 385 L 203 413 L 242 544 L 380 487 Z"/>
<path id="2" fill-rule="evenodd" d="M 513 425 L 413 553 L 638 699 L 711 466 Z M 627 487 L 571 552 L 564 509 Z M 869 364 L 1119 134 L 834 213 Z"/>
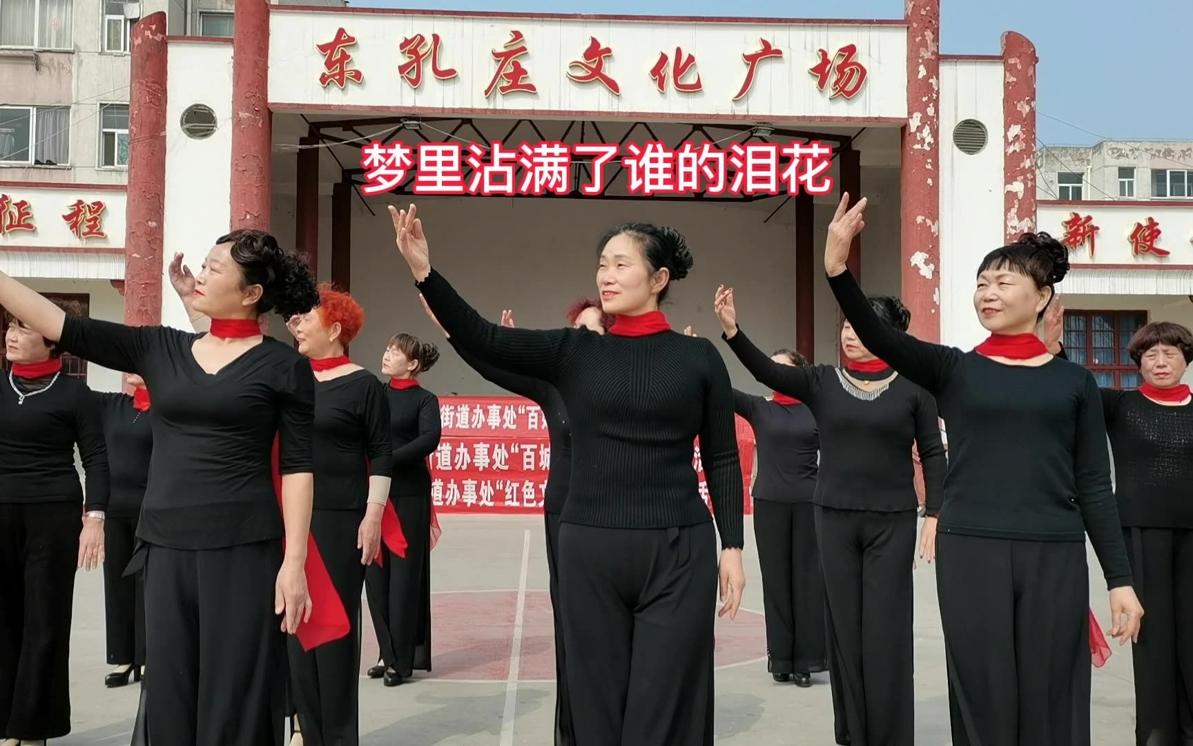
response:
<path id="1" fill-rule="evenodd" d="M 125 380 L 132 395 L 123 392 L 93 394 L 104 427 L 112 495 L 104 522 L 104 628 L 107 630 L 107 664 L 116 668 L 104 678 L 106 686 L 140 682 L 146 665 L 144 584 L 141 573 L 125 575 L 136 544 L 137 516 L 146 497 L 153 429 L 149 425 L 149 389 L 136 374 Z"/>

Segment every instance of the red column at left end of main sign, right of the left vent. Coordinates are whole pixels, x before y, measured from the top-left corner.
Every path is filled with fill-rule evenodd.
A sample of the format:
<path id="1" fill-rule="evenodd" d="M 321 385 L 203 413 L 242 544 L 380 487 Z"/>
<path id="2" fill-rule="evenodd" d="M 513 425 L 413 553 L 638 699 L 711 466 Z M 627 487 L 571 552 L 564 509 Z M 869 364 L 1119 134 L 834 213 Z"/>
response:
<path id="1" fill-rule="evenodd" d="M 236 2 L 231 41 L 231 228 L 270 229 L 270 6 Z"/>

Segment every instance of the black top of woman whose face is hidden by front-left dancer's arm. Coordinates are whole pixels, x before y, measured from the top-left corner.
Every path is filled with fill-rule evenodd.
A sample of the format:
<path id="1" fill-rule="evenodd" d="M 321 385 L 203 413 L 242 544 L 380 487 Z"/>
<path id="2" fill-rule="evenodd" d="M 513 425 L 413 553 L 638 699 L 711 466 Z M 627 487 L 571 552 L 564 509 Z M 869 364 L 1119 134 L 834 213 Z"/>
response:
<path id="1" fill-rule="evenodd" d="M 119 392 L 92 394 L 107 444 L 112 497 L 109 518 L 136 518 L 146 497 L 149 458 L 153 456 L 153 426 L 149 413 L 132 407 L 132 397 Z"/>

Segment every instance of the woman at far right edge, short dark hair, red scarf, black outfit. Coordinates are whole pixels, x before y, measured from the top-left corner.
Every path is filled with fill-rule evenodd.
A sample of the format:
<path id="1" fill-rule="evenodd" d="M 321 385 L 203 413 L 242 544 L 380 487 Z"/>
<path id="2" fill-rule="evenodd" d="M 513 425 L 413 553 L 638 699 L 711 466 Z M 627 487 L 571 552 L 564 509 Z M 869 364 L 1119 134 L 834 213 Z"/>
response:
<path id="1" fill-rule="evenodd" d="M 1123 538 L 1148 609 L 1131 651 L 1136 744 L 1185 746 L 1193 742 L 1193 399 L 1181 377 L 1193 333 L 1154 321 L 1127 353 L 1143 386 L 1101 393 Z"/>

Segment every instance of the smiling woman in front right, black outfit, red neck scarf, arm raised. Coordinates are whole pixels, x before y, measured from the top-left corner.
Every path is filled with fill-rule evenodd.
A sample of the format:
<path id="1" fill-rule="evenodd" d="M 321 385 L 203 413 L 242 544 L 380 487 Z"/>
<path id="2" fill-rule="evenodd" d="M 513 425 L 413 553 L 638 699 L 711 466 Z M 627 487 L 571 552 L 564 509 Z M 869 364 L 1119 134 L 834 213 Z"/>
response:
<path id="1" fill-rule="evenodd" d="M 1068 249 L 1025 234 L 978 266 L 973 308 L 991 334 L 971 352 L 883 323 L 846 269 L 866 199 L 842 197 L 824 270 L 861 341 L 932 392 L 948 424 L 945 499 L 929 508 L 956 746 L 1086 746 L 1089 623 L 1086 534 L 1106 577 L 1111 634 L 1137 639 L 1111 492 L 1098 384 L 1034 334 L 1069 270 Z M 939 514 L 939 518 L 938 518 Z"/>

